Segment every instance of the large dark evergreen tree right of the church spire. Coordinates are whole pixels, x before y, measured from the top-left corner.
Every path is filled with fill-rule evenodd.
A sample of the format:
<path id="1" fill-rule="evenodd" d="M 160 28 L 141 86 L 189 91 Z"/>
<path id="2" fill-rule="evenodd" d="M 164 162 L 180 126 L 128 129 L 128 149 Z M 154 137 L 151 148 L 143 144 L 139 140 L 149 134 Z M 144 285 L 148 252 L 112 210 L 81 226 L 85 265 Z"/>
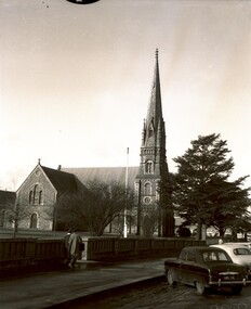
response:
<path id="1" fill-rule="evenodd" d="M 175 211 L 187 223 L 213 226 L 221 236 L 236 220 L 247 221 L 251 205 L 250 188 L 242 189 L 248 176 L 229 181 L 235 167 L 229 153 L 220 134 L 199 136 L 183 156 L 173 159 L 177 172 L 168 184 Z"/>

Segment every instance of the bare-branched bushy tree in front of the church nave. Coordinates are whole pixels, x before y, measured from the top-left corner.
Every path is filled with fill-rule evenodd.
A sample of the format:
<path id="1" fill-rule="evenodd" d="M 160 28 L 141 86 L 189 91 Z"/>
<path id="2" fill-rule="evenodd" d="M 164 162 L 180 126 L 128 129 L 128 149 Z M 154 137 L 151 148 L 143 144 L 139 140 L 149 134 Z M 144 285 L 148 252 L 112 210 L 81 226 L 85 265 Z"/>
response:
<path id="1" fill-rule="evenodd" d="M 92 235 L 101 236 L 105 228 L 133 205 L 132 190 L 118 182 L 90 181 L 88 191 L 64 194 L 57 203 L 58 220 L 70 226 L 85 227 Z"/>

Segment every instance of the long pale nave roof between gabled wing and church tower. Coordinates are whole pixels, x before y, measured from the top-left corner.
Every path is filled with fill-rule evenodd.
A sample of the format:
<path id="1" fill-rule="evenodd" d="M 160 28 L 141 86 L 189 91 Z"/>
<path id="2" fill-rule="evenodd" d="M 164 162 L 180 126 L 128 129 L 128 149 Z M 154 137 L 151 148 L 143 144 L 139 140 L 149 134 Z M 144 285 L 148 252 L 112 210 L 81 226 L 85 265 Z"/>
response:
<path id="1" fill-rule="evenodd" d="M 109 182 L 111 180 L 126 185 L 126 167 L 72 167 L 62 168 L 62 170 L 74 173 L 83 184 L 95 179 L 102 182 Z M 138 167 L 128 167 L 128 185 L 134 188 L 134 181 L 138 173 Z"/>

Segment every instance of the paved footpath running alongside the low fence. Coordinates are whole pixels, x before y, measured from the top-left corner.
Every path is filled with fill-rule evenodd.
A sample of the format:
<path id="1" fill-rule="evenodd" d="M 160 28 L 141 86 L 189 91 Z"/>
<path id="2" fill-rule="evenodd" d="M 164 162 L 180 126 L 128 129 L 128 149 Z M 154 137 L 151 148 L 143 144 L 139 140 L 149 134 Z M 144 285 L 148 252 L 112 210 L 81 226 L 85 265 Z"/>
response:
<path id="1" fill-rule="evenodd" d="M 75 270 L 57 270 L 0 280 L 1 309 L 61 306 L 164 274 L 164 258 L 127 262 L 80 261 Z"/>

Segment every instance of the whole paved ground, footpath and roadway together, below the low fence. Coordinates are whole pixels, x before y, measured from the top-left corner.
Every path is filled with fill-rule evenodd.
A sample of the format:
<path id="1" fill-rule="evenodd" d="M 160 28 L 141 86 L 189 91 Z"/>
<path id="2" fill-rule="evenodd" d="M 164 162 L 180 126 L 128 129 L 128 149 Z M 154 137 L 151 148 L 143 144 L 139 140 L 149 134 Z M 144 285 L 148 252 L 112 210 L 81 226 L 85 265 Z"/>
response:
<path id="1" fill-rule="evenodd" d="M 227 292 L 201 296 L 184 285 L 173 288 L 163 275 L 163 260 L 83 262 L 75 271 L 1 280 L 0 308 L 251 309 L 251 285 L 239 296 Z"/>

